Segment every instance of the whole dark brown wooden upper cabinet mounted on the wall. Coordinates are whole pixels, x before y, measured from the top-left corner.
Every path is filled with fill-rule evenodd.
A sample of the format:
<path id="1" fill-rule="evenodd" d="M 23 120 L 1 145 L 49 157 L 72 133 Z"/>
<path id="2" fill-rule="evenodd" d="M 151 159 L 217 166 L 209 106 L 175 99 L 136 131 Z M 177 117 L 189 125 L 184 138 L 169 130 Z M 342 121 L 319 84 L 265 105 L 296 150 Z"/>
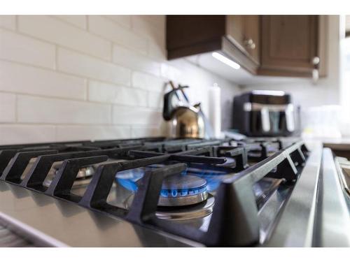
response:
<path id="1" fill-rule="evenodd" d="M 325 16 L 168 15 L 168 59 L 221 52 L 253 75 L 325 75 Z"/>

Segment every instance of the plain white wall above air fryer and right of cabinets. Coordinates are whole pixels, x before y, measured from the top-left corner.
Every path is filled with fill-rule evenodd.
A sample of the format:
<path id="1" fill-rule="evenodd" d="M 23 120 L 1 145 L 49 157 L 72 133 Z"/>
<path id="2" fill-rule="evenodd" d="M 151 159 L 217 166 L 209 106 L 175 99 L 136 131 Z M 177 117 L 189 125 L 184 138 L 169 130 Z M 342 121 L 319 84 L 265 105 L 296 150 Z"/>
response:
<path id="1" fill-rule="evenodd" d="M 328 75 L 314 84 L 309 79 L 296 78 L 290 82 L 269 85 L 249 85 L 242 92 L 253 89 L 273 89 L 289 92 L 303 109 L 315 105 L 339 104 L 339 16 L 328 17 Z"/>

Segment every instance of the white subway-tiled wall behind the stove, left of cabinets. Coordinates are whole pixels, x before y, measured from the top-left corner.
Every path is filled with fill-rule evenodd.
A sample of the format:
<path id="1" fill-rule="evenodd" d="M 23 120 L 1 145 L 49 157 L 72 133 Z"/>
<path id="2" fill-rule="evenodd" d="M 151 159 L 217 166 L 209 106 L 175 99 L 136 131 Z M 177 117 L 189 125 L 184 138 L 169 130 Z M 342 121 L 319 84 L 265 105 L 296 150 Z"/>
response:
<path id="1" fill-rule="evenodd" d="M 165 16 L 0 16 L 0 144 L 160 136 L 169 79 L 203 101 L 218 82 L 185 59 L 167 62 Z M 228 110 L 230 112 L 230 110 Z M 230 127 L 230 113 L 223 114 Z"/>

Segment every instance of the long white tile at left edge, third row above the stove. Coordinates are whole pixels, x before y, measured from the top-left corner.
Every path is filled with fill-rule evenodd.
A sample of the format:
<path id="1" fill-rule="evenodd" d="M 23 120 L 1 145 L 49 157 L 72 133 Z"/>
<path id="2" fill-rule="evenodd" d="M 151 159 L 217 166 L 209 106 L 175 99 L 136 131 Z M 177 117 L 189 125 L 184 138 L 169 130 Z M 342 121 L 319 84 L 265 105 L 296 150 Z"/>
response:
<path id="1" fill-rule="evenodd" d="M 55 71 L 0 61 L 0 90 L 6 92 L 86 99 L 85 80 Z"/>

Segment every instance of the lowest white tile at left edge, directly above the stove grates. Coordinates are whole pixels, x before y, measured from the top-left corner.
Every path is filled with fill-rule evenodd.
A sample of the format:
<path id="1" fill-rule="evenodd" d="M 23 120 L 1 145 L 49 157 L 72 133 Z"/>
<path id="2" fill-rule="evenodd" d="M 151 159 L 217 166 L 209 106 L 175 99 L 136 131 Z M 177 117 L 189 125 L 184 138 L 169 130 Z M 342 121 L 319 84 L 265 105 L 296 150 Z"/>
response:
<path id="1" fill-rule="evenodd" d="M 55 126 L 41 124 L 0 124 L 0 144 L 29 144 L 55 141 Z"/>

